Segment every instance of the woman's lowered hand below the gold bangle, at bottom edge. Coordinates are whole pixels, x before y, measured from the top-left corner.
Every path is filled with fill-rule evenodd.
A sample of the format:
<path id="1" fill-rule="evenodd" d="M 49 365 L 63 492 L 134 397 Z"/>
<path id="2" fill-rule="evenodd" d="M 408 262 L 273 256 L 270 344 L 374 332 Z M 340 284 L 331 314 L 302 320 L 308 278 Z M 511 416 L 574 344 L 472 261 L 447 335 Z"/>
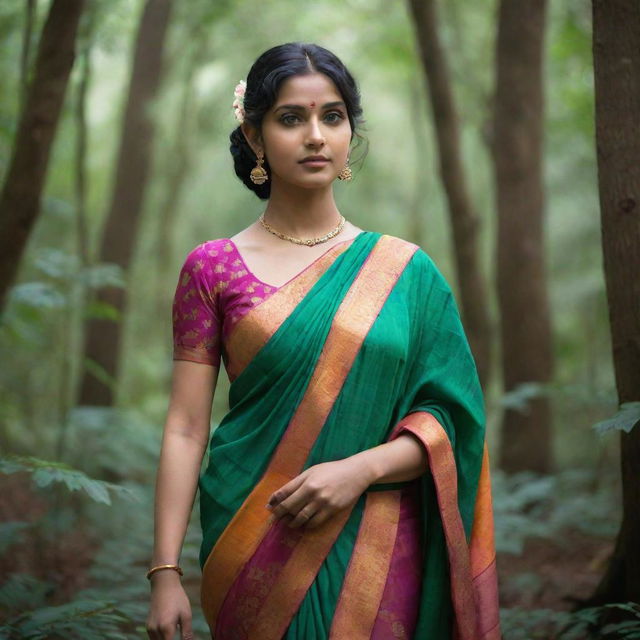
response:
<path id="1" fill-rule="evenodd" d="M 147 634 L 151 640 L 174 640 L 178 627 L 180 640 L 193 640 L 189 598 L 175 571 L 157 571 L 151 576 Z"/>

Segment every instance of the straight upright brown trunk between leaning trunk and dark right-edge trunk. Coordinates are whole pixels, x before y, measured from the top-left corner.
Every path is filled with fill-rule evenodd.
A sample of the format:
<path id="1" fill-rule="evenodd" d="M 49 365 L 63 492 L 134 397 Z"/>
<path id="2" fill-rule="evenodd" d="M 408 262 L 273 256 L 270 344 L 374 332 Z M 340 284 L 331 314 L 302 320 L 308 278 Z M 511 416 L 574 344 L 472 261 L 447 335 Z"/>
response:
<path id="1" fill-rule="evenodd" d="M 553 373 L 544 250 L 543 50 L 546 0 L 502 0 L 497 38 L 493 160 L 498 212 L 497 289 L 507 392 Z M 507 408 L 501 467 L 552 469 L 546 396 L 522 413 Z"/>

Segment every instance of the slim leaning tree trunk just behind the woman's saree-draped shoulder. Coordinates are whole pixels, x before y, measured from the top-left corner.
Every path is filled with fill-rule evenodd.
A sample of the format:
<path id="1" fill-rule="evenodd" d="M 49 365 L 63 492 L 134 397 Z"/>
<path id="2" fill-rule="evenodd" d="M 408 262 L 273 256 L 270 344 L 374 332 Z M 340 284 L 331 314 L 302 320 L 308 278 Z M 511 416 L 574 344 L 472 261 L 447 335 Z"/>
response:
<path id="1" fill-rule="evenodd" d="M 449 70 L 439 42 L 435 1 L 409 0 L 409 6 L 429 85 L 440 156 L 440 175 L 449 203 L 461 315 L 480 380 L 486 388 L 491 364 L 491 330 L 485 280 L 478 257 L 479 220 L 471 202 L 462 166 L 458 116 Z"/>

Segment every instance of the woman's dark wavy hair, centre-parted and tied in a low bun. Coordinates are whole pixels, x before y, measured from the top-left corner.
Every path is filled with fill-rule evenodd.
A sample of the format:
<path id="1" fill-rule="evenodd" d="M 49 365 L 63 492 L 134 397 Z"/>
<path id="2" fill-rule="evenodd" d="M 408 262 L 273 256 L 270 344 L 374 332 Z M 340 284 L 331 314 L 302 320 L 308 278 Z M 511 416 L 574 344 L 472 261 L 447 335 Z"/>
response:
<path id="1" fill-rule="evenodd" d="M 353 136 L 356 136 L 356 148 L 359 147 L 365 138 L 359 133 L 364 120 L 360 106 L 360 91 L 356 81 L 334 53 L 317 44 L 288 42 L 272 47 L 260 55 L 247 75 L 244 95 L 245 121 L 260 131 L 266 112 L 276 101 L 280 85 L 291 76 L 316 72 L 324 73 L 336 85 L 347 108 L 351 137 L 353 139 Z M 259 198 L 267 200 L 271 194 L 271 181 L 267 180 L 261 185 L 251 182 L 249 173 L 256 166 L 256 154 L 247 143 L 239 126 L 231 132 L 229 139 L 231 141 L 229 149 L 233 156 L 236 175 Z M 362 160 L 365 155 L 366 148 L 365 153 L 356 161 Z M 263 166 L 269 173 L 266 157 Z"/>

